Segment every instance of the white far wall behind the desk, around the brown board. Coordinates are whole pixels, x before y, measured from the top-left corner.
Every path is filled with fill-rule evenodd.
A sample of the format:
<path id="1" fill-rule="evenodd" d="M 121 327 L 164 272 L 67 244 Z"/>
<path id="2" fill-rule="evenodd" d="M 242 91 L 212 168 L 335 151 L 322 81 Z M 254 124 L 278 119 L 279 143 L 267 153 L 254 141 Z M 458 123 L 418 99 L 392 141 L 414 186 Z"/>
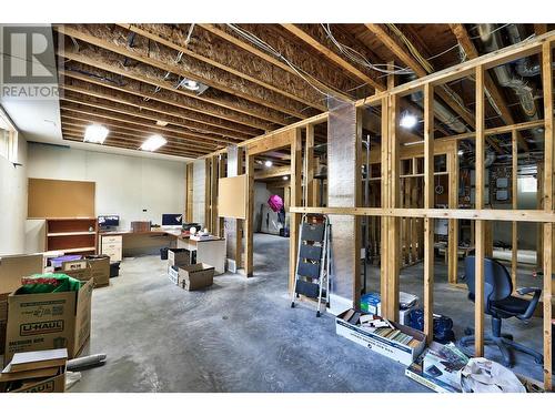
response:
<path id="1" fill-rule="evenodd" d="M 97 215 L 119 214 L 121 230 L 185 206 L 183 162 L 29 143 L 28 176 L 95 182 Z"/>

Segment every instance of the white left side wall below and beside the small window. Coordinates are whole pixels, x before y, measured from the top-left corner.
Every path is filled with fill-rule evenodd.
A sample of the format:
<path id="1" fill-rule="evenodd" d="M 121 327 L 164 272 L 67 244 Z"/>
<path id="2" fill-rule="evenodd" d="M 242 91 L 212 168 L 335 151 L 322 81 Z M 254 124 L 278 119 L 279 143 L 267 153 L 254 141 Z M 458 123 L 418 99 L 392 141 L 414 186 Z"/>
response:
<path id="1" fill-rule="evenodd" d="M 0 255 L 26 251 L 27 219 L 27 142 L 19 134 L 18 162 L 13 166 L 0 156 Z"/>

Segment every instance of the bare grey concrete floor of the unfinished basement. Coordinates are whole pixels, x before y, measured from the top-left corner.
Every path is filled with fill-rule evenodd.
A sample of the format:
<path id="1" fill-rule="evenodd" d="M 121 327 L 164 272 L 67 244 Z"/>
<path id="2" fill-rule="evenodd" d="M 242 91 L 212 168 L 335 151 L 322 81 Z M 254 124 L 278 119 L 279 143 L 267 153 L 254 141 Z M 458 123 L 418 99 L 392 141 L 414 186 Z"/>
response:
<path id="1" fill-rule="evenodd" d="M 255 277 L 216 276 L 200 292 L 172 285 L 157 256 L 125 258 L 111 286 L 93 293 L 84 354 L 105 353 L 108 363 L 83 372 L 71 392 L 430 392 L 403 365 L 336 336 L 332 316 L 290 307 L 287 239 L 255 234 L 254 247 Z M 461 316 L 460 336 L 473 305 L 441 268 L 436 308 Z M 372 286 L 376 270 L 370 274 Z M 422 295 L 421 275 L 421 265 L 404 270 L 402 290 Z M 541 343 L 539 319 L 506 329 Z M 522 373 L 539 378 L 525 359 L 518 369 L 537 367 Z"/>

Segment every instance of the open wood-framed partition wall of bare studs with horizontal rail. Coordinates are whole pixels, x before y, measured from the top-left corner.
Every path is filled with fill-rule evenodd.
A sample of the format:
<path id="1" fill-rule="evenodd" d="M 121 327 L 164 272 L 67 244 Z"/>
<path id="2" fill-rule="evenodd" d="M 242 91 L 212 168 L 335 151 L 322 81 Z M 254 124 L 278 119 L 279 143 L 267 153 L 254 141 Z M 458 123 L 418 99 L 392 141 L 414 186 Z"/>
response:
<path id="1" fill-rule="evenodd" d="M 291 175 L 292 175 L 292 206 L 290 212 L 291 217 L 291 251 L 290 251 L 290 264 L 295 263 L 295 241 L 296 241 L 296 226 L 299 223 L 299 216 L 302 213 L 323 213 L 329 215 L 355 215 L 355 216 L 376 216 L 381 217 L 382 222 L 389 222 L 395 224 L 395 219 L 408 217 L 408 219 L 422 219 L 425 223 L 424 232 L 424 308 L 425 308 L 425 331 L 428 335 L 428 339 L 432 339 L 432 316 L 433 316 L 433 290 L 434 290 L 434 270 L 432 262 L 433 254 L 433 223 L 437 219 L 450 220 L 450 230 L 452 227 L 456 229 L 456 222 L 460 220 L 472 220 L 475 222 L 475 244 L 476 244 L 476 292 L 477 302 L 475 303 L 475 331 L 476 331 L 476 353 L 477 355 L 483 355 L 483 336 L 484 336 L 484 304 L 483 304 L 483 290 L 484 290 L 484 270 L 483 270 L 483 257 L 486 252 L 486 239 L 485 231 L 487 229 L 488 222 L 492 221 L 507 221 L 513 224 L 518 222 L 532 222 L 541 223 L 543 230 L 544 242 L 553 242 L 553 226 L 555 223 L 554 213 L 554 126 L 553 126 L 553 44 L 555 42 L 555 32 L 548 32 L 543 35 L 529 39 L 527 41 L 521 42 L 518 44 L 501 49 L 498 51 L 474 58 L 450 69 L 432 73 L 430 75 L 420 78 L 417 80 L 392 87 L 385 91 L 377 92 L 376 94 L 359 100 L 355 102 L 357 108 L 364 108 L 366 105 L 381 105 L 382 106 L 382 146 L 377 155 L 377 161 L 382 162 L 382 166 L 387 166 L 387 169 L 382 169 L 381 173 L 381 190 L 382 195 L 390 195 L 389 201 L 394 201 L 396 192 L 398 192 L 398 166 L 400 161 L 403 158 L 402 151 L 396 151 L 398 143 L 396 142 L 398 138 L 395 135 L 396 125 L 398 125 L 398 112 L 395 111 L 395 104 L 398 99 L 406 97 L 416 91 L 424 92 L 424 124 L 425 134 L 423 145 L 414 150 L 415 152 L 422 152 L 424 156 L 424 196 L 425 205 L 422 209 L 414 207 L 398 207 L 394 203 L 382 205 L 382 207 L 315 207 L 315 206 L 300 206 L 300 195 L 301 195 L 301 166 L 302 166 L 302 154 L 300 150 L 300 129 L 323 122 L 327 120 L 329 113 L 322 113 L 289 126 L 279 129 L 272 133 L 266 133 L 255 139 L 248 140 L 240 145 L 248 149 L 248 175 L 249 184 L 252 190 L 252 183 L 254 180 L 254 168 L 252 159 L 256 152 L 262 152 L 272 149 L 275 145 L 275 138 L 287 136 L 290 145 L 293 146 L 291 155 Z M 544 113 L 545 120 L 536 120 L 533 122 L 512 124 L 495 129 L 485 129 L 485 115 L 484 115 L 484 101 L 485 91 L 484 82 L 486 71 L 514 61 L 519 58 L 541 54 L 542 65 L 543 65 L 543 94 L 544 94 Z M 431 110 L 433 102 L 434 90 L 441 89 L 443 84 L 448 83 L 454 80 L 460 80 L 463 78 L 474 78 L 476 83 L 476 105 L 475 105 L 475 131 L 457 134 L 448 138 L 435 139 L 433 135 L 433 112 Z M 516 142 L 517 132 L 521 130 L 532 129 L 534 126 L 544 126 L 545 130 L 545 160 L 544 160 L 544 177 L 543 177 L 543 209 L 542 210 L 491 210 L 484 206 L 484 155 L 485 155 L 485 143 L 488 135 L 495 135 L 501 133 L 512 133 L 513 141 Z M 287 133 L 287 134 L 285 134 Z M 293 139 L 291 139 L 293 138 Z M 454 197 L 450 197 L 450 204 L 447 209 L 435 209 L 433 207 L 433 202 L 431 196 L 433 196 L 433 175 L 434 175 L 434 164 L 433 158 L 445 143 L 456 143 L 460 140 L 474 139 L 477 154 L 476 163 L 476 205 L 475 209 L 464 209 L 457 207 Z M 416 149 L 416 148 L 415 148 Z M 404 150 L 408 151 L 408 150 Z M 208 158 L 216 154 L 224 153 L 224 150 L 211 153 Z M 375 152 L 373 158 L 376 158 Z M 448 171 L 452 172 L 450 176 L 450 183 L 457 183 L 457 165 L 456 158 L 453 155 L 448 161 Z M 373 159 L 376 160 L 376 159 Z M 309 170 L 310 171 L 310 170 Z M 293 180 L 294 176 L 294 180 Z M 246 244 L 245 244 L 245 271 L 246 274 L 252 274 L 252 195 L 248 201 L 248 207 L 251 210 L 248 215 L 246 221 Z M 515 207 L 516 205 L 513 205 Z M 514 226 L 514 225 L 513 225 Z M 396 319 L 396 311 L 398 311 L 398 267 L 394 266 L 387 258 L 387 252 L 398 251 L 400 248 L 400 237 L 398 237 L 398 226 L 393 225 L 387 229 L 387 244 L 389 250 L 382 250 L 382 264 L 387 264 L 384 267 L 384 273 L 382 273 L 382 288 L 386 287 L 385 291 L 382 290 L 382 302 L 386 306 L 382 307 L 383 314 L 387 318 Z M 391 237 L 391 239 L 390 239 Z M 552 244 L 543 245 L 543 336 L 544 336 L 544 386 L 546 390 L 551 390 L 552 385 L 552 293 L 553 293 L 553 252 Z M 456 240 L 450 239 L 448 247 L 450 258 L 456 258 L 457 247 Z M 450 265 L 450 282 L 456 282 L 456 260 Z M 290 267 L 290 282 L 294 273 L 294 267 Z"/>

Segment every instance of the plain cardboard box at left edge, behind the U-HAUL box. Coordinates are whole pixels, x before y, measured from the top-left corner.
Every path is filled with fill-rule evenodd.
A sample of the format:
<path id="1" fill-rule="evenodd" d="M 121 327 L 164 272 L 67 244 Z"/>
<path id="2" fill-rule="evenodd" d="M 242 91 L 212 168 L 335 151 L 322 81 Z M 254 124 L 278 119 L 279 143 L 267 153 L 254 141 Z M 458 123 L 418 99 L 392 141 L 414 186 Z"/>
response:
<path id="1" fill-rule="evenodd" d="M 42 273 L 42 254 L 0 257 L 0 355 L 4 352 L 8 325 L 8 295 L 21 286 L 21 277 Z"/>

